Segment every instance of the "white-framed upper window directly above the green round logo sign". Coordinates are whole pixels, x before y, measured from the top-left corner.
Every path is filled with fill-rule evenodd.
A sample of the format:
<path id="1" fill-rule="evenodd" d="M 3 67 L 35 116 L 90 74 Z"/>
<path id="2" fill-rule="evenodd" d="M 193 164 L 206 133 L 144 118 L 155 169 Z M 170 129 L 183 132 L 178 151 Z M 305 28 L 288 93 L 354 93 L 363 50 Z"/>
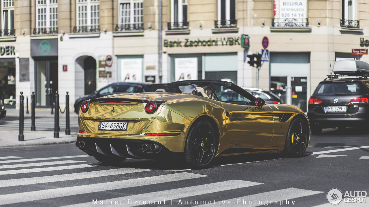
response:
<path id="1" fill-rule="evenodd" d="M 33 34 L 58 34 L 58 0 L 37 0 L 36 3 Z"/>

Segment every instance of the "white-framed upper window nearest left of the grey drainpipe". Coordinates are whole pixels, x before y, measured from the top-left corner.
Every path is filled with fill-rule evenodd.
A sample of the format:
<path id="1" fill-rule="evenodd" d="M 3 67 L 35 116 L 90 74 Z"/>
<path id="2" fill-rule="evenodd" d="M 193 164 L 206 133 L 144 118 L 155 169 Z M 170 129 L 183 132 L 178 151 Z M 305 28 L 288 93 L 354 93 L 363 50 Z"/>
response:
<path id="1" fill-rule="evenodd" d="M 121 1 L 119 6 L 119 24 L 116 31 L 143 30 L 143 1 Z"/>

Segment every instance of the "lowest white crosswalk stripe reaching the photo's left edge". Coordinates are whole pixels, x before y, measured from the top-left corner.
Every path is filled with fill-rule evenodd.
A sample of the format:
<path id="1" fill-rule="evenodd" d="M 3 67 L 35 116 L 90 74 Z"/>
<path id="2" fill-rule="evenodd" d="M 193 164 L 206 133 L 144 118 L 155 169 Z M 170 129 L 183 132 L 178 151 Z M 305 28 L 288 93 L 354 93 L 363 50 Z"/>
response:
<path id="1" fill-rule="evenodd" d="M 107 183 L 96 183 L 83 186 L 72 186 L 57 189 L 37 190 L 24 193 L 4 194 L 0 195 L 0 205 L 28 202 L 41 199 L 52 199 L 57 197 L 79 195 L 84 193 L 94 193 L 106 190 L 124 189 L 127 187 L 137 187 L 203 177 L 207 176 L 188 172 L 180 172 L 169 175 L 159 175 L 130 180 L 119 180 Z"/>

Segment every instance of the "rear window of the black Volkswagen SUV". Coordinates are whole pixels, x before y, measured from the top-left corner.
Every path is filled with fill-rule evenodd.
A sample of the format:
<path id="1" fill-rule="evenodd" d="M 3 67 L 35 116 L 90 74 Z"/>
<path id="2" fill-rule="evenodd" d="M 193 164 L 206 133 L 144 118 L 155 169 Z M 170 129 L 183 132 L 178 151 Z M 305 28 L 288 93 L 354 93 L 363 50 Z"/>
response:
<path id="1" fill-rule="evenodd" d="M 315 95 L 357 95 L 360 94 L 359 83 L 336 82 L 321 83 L 314 92 Z"/>

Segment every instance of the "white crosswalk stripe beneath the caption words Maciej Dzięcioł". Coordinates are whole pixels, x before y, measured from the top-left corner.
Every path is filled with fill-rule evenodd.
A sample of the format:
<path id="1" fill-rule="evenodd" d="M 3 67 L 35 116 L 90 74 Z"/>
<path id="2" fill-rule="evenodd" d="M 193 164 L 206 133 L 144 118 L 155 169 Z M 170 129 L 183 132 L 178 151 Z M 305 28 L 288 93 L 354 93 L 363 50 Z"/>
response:
<path id="1" fill-rule="evenodd" d="M 263 183 L 256 183 L 256 182 L 250 182 L 250 181 L 244 181 L 244 180 L 227 180 L 227 181 L 217 182 L 217 183 L 208 183 L 204 185 L 182 187 L 182 188 L 171 189 L 171 190 L 163 190 L 163 191 L 158 191 L 158 192 L 119 197 L 119 198 L 114 198 L 114 199 L 102 200 L 102 202 L 105 204 L 106 201 L 110 203 L 111 200 L 118 201 L 118 202 L 122 201 L 122 204 L 124 207 L 131 207 L 131 206 L 137 206 L 137 204 L 134 204 L 134 202 L 128 203 L 128 199 L 130 199 L 131 201 L 141 200 L 141 203 L 143 201 L 146 201 L 146 203 L 148 203 L 148 201 L 152 201 L 152 203 L 154 203 L 154 200 L 162 201 L 162 202 L 164 200 L 167 200 L 169 202 L 171 199 L 174 200 L 174 199 L 180 199 L 180 198 L 190 197 L 190 196 L 199 196 L 199 195 L 207 194 L 207 193 L 215 193 L 215 192 L 220 192 L 220 191 L 225 191 L 225 190 L 232 190 L 232 189 L 238 189 L 242 187 L 261 185 L 261 184 Z M 97 204 L 99 204 L 100 202 L 101 201 L 96 201 Z M 87 203 L 73 204 L 73 205 L 65 206 L 65 207 L 83 207 L 83 206 L 92 206 L 92 204 L 93 203 L 91 202 L 87 202 Z"/>

